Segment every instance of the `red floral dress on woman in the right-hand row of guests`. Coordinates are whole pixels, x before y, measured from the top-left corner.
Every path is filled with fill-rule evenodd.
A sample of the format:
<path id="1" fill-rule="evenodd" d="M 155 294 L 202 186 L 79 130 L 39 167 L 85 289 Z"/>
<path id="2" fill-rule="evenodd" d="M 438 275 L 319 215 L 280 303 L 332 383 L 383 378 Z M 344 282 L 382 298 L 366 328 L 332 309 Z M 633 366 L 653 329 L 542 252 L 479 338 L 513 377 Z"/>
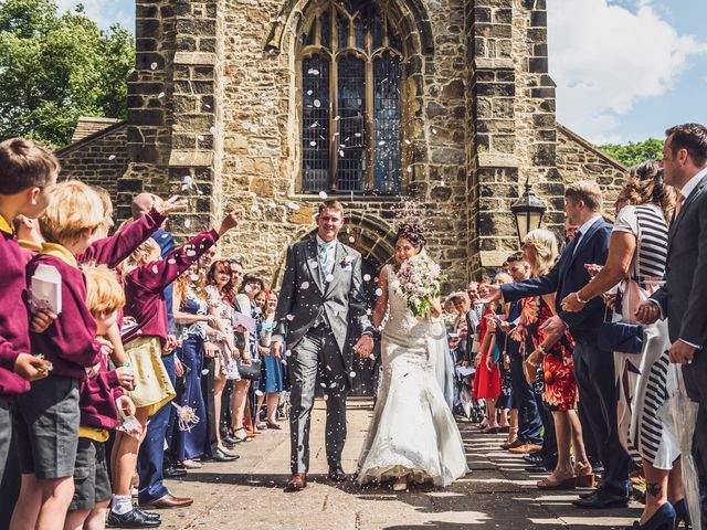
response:
<path id="1" fill-rule="evenodd" d="M 552 309 L 542 297 L 525 298 L 521 303 L 520 327 L 528 348 L 537 349 L 546 339 L 540 327 L 552 318 Z M 578 400 L 577 381 L 574 379 L 574 339 L 569 331 L 542 356 L 542 399 L 551 411 L 567 412 L 574 407 Z M 530 351 L 525 352 L 526 356 Z"/>

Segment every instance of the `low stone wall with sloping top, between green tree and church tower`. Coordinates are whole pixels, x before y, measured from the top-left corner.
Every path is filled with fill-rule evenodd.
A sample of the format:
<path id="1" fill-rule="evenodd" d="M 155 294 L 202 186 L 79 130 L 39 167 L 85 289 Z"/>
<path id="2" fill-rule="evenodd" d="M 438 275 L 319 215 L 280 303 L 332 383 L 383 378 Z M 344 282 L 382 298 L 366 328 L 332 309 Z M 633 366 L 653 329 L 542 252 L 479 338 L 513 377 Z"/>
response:
<path id="1" fill-rule="evenodd" d="M 77 179 L 104 188 L 117 203 L 118 179 L 128 167 L 126 142 L 127 125 L 120 123 L 60 149 L 60 180 Z"/>

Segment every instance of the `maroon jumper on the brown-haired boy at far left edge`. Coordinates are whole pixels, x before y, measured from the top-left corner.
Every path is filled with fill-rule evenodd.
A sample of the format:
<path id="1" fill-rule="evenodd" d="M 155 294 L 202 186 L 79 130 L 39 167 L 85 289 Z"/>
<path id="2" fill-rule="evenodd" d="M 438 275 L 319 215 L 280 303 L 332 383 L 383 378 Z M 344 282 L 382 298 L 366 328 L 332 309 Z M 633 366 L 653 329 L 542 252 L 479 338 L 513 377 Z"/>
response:
<path id="1" fill-rule="evenodd" d="M 14 373 L 20 353 L 30 352 L 30 315 L 24 303 L 27 256 L 10 223 L 0 215 L 0 401 L 30 390 Z"/>

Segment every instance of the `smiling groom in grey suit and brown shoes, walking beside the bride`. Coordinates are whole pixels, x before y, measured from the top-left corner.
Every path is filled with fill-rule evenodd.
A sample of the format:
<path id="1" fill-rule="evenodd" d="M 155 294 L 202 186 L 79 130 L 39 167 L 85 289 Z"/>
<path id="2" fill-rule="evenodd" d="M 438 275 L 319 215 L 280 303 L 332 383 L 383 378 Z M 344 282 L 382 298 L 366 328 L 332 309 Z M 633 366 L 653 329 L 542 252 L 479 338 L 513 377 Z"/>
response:
<path id="1" fill-rule="evenodd" d="M 345 354 L 349 321 L 359 330 L 354 351 L 367 358 L 373 349 L 373 327 L 367 317 L 361 288 L 361 255 L 341 244 L 344 206 L 319 205 L 317 234 L 287 248 L 285 276 L 275 312 L 272 352 L 288 357 L 292 477 L 285 491 L 307 486 L 309 423 L 317 373 L 327 400 L 326 451 L 328 478 L 346 480 L 341 451 L 346 441 L 346 393 L 352 367 Z M 288 348 L 285 350 L 286 344 Z"/>

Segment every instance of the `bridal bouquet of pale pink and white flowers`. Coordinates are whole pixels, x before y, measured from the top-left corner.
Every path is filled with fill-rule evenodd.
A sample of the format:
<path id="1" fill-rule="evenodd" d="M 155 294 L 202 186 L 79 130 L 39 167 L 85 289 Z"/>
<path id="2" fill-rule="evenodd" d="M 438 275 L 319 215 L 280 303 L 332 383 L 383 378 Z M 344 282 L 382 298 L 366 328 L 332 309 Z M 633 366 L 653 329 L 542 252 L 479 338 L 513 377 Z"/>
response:
<path id="1" fill-rule="evenodd" d="M 430 300 L 440 296 L 442 275 L 440 266 L 424 254 L 418 254 L 403 262 L 397 274 L 398 292 L 408 301 L 408 307 L 416 318 L 428 315 Z"/>

